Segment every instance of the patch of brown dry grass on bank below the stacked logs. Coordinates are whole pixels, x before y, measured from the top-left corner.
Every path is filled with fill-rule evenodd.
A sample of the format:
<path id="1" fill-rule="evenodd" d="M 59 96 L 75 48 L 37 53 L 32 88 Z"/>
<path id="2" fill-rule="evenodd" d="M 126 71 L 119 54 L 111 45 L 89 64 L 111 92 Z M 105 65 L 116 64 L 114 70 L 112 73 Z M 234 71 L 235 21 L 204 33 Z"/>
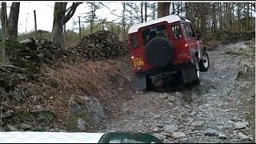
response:
<path id="1" fill-rule="evenodd" d="M 67 92 L 94 95 L 106 89 L 113 78 L 119 74 L 113 62 L 86 62 L 79 60 L 73 64 L 61 64 L 62 68 L 46 67 L 43 74 L 46 82 L 56 85 Z"/>

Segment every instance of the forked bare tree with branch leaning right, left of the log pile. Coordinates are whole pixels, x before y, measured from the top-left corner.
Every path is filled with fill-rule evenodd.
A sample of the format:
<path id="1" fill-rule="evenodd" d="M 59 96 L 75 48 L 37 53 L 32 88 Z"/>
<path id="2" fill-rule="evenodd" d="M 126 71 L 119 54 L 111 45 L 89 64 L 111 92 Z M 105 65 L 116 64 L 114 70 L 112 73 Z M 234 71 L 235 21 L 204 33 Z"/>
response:
<path id="1" fill-rule="evenodd" d="M 67 2 L 55 2 L 54 4 L 54 23 L 51 34 L 51 41 L 63 49 L 63 26 L 72 18 L 77 7 L 82 2 L 73 2 L 72 6 L 66 9 Z"/>

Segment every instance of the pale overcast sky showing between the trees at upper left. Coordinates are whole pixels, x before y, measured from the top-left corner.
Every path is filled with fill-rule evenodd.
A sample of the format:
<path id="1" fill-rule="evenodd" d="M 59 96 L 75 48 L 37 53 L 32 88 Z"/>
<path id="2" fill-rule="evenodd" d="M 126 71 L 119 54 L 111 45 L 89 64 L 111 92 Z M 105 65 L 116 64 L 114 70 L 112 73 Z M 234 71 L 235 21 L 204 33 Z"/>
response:
<path id="1" fill-rule="evenodd" d="M 110 6 L 110 10 L 116 10 L 114 14 L 121 14 L 122 13 L 122 5 L 121 2 L 104 2 L 107 6 Z M 72 2 L 68 2 L 68 6 L 72 4 Z M 10 13 L 10 5 L 11 2 L 7 2 L 7 14 Z M 8 7 L 9 6 L 9 7 Z M 37 28 L 38 30 L 47 30 L 51 31 L 54 21 L 54 2 L 20 2 L 20 13 L 18 18 L 18 33 L 25 33 L 34 30 L 34 10 L 36 10 L 37 15 Z M 96 11 L 96 15 L 99 18 L 107 18 L 107 21 L 112 21 L 117 19 L 113 14 L 110 14 L 110 10 L 106 7 L 102 7 L 101 10 Z M 66 29 L 75 29 L 78 27 L 72 26 L 73 21 L 78 21 L 78 16 L 82 15 L 90 11 L 86 2 L 82 3 L 78 6 L 74 16 L 70 19 L 69 22 L 66 23 Z M 84 15 L 84 14 L 83 14 Z M 83 19 L 81 18 L 81 21 Z"/>

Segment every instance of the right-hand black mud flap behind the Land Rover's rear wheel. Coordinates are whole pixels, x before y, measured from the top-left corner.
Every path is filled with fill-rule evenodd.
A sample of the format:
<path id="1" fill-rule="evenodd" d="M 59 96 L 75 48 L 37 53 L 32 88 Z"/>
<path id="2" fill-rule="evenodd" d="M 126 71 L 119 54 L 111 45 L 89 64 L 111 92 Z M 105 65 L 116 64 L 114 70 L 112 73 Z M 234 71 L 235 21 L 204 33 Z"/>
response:
<path id="1" fill-rule="evenodd" d="M 191 68 L 186 68 L 186 69 L 182 69 L 182 78 L 183 78 L 183 82 L 193 82 L 194 80 L 197 79 L 197 75 L 195 72 L 195 68 L 191 67 Z"/>

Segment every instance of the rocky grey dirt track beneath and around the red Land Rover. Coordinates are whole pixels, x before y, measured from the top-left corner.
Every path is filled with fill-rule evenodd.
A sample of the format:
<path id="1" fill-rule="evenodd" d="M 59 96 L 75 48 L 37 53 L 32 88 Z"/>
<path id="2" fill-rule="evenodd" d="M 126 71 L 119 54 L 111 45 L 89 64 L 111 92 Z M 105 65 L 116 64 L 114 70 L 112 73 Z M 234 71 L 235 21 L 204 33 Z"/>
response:
<path id="1" fill-rule="evenodd" d="M 254 50 L 250 41 L 208 51 L 210 70 L 197 86 L 141 92 L 130 82 L 99 131 L 146 132 L 163 142 L 254 142 Z"/>

